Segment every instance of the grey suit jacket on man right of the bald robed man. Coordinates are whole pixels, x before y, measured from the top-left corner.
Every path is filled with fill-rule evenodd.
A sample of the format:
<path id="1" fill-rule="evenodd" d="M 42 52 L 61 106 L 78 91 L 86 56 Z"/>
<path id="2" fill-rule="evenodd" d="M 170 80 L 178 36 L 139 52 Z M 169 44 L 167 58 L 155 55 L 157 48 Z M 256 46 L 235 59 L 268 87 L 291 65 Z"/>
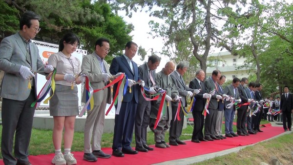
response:
<path id="1" fill-rule="evenodd" d="M 181 99 L 182 106 L 186 107 L 187 106 L 186 96 L 188 95 L 188 91 L 191 91 L 193 93 L 194 89 L 191 89 L 188 86 L 186 86 L 185 82 L 181 81 L 176 71 L 172 72 L 170 76 L 172 78 L 173 83 L 176 86 L 177 91 L 179 92 L 179 96 L 182 98 Z M 178 103 L 172 102 L 172 106 L 178 106 Z"/>

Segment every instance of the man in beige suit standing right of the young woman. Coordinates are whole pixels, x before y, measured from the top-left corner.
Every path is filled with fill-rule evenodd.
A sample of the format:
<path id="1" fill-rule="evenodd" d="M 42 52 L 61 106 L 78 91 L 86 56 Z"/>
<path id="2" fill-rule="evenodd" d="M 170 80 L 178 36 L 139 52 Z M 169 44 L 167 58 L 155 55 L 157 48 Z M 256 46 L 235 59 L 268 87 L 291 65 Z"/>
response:
<path id="1" fill-rule="evenodd" d="M 109 40 L 100 38 L 96 41 L 95 51 L 84 57 L 82 72 L 88 77 L 93 89 L 101 89 L 111 78 L 108 63 L 104 60 L 110 51 Z M 82 101 L 86 103 L 86 89 Z M 106 103 L 111 103 L 111 88 L 93 94 L 94 107 L 87 112 L 84 124 L 84 160 L 96 162 L 97 158 L 110 158 L 101 150 L 101 140 L 105 122 Z"/>

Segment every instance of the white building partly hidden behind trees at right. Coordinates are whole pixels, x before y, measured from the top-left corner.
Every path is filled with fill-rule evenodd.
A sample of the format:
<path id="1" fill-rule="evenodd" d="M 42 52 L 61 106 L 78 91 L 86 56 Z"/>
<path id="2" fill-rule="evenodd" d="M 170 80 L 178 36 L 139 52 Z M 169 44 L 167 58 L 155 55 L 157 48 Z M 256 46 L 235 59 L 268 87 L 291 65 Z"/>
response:
<path id="1" fill-rule="evenodd" d="M 219 52 L 208 55 L 207 61 L 207 78 L 211 76 L 213 70 L 218 69 L 222 72 L 222 75 L 226 76 L 226 80 L 232 80 L 237 77 L 239 79 L 243 77 L 249 77 L 249 67 L 238 68 L 244 66 L 243 57 L 239 58 L 239 55 L 231 55 L 230 52 Z M 210 65 L 210 66 L 209 66 Z"/>

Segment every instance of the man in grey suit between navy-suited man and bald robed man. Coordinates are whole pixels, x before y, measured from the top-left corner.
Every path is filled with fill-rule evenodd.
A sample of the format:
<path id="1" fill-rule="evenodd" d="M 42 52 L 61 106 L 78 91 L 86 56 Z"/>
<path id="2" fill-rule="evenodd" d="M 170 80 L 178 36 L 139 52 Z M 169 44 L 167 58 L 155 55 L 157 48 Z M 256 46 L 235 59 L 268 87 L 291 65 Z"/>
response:
<path id="1" fill-rule="evenodd" d="M 147 62 L 138 67 L 139 77 L 144 80 L 145 88 L 148 89 L 147 94 L 155 94 L 156 92 L 156 77 L 155 69 L 160 65 L 161 58 L 157 55 L 152 55 L 148 58 Z M 150 115 L 150 101 L 146 101 L 143 95 L 138 95 L 138 107 L 135 117 L 135 150 L 141 152 L 152 151 L 153 148 L 146 144 L 146 132 L 149 124 Z"/>

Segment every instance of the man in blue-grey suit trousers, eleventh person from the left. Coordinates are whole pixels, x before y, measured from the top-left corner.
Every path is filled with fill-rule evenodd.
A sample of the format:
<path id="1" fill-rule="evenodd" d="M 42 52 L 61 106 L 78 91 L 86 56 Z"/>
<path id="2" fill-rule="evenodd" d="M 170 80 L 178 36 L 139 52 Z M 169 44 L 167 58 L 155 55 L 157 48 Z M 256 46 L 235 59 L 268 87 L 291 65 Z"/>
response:
<path id="1" fill-rule="evenodd" d="M 233 120 L 235 115 L 235 105 L 232 105 L 230 108 L 227 108 L 227 105 L 233 102 L 233 99 L 240 99 L 237 86 L 240 84 L 240 79 L 234 78 L 232 83 L 225 87 L 224 94 L 231 97 L 230 101 L 225 102 L 224 106 L 224 116 L 225 116 L 225 136 L 232 138 L 237 137 L 238 135 L 233 132 Z"/>

